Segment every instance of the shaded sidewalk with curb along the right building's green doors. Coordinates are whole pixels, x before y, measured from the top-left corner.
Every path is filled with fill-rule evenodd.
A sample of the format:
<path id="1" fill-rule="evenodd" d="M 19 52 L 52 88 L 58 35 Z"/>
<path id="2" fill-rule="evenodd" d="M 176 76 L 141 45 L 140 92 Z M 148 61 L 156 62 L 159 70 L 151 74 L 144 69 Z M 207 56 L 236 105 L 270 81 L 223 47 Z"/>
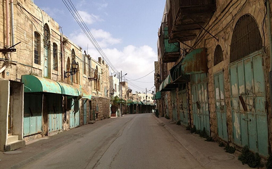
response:
<path id="1" fill-rule="evenodd" d="M 216 142 L 207 142 L 198 134 L 191 134 L 184 126 L 170 124 L 170 120 L 160 117 L 159 123 L 164 123 L 164 127 L 173 135 L 182 146 L 185 147 L 205 168 L 250 168 L 243 165 L 238 160 L 238 156 L 225 152 L 224 147 L 219 147 Z M 163 125 L 163 124 L 161 124 Z"/>

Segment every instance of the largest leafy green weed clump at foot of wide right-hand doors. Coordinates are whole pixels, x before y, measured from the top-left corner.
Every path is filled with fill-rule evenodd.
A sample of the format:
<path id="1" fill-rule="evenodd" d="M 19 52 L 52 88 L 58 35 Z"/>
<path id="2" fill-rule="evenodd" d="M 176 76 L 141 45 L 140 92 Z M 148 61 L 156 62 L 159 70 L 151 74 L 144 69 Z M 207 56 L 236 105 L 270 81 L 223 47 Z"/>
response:
<path id="1" fill-rule="evenodd" d="M 261 157 L 259 153 L 253 153 L 249 151 L 248 146 L 244 146 L 242 154 L 239 155 L 238 160 L 242 161 L 243 164 L 248 164 L 251 168 L 262 167 Z"/>

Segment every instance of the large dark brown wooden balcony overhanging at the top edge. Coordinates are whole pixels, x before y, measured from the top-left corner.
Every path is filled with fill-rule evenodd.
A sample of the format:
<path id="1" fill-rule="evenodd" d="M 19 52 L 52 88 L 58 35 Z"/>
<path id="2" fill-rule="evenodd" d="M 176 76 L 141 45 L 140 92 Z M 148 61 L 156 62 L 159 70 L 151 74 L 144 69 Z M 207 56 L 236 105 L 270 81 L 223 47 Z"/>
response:
<path id="1" fill-rule="evenodd" d="M 170 0 L 167 11 L 170 43 L 193 40 L 215 10 L 215 0 Z"/>

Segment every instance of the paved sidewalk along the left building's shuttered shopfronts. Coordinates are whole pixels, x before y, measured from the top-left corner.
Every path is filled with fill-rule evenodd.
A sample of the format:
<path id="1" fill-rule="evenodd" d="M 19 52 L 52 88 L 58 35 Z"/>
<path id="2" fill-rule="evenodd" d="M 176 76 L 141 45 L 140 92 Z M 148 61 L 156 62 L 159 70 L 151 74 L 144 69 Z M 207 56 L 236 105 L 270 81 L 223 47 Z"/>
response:
<path id="1" fill-rule="evenodd" d="M 115 118 L 107 118 L 96 121 L 94 124 L 80 126 L 50 137 L 28 141 L 25 147 L 13 151 L 18 151 L 20 152 L 19 154 L 4 154 L 4 152 L 0 152 L 0 169 L 23 167 L 33 160 L 41 158 L 55 149 L 83 137 L 86 133 L 92 132 L 114 120 Z"/>

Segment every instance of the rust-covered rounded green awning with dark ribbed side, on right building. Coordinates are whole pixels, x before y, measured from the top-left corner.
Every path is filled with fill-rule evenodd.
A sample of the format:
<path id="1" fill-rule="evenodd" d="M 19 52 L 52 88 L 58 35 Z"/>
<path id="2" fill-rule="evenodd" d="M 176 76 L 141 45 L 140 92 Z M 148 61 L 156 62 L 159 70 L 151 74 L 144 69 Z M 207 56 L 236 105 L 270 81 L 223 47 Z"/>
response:
<path id="1" fill-rule="evenodd" d="M 190 81 L 189 75 L 207 73 L 206 48 L 191 51 L 186 57 L 170 70 L 174 83 Z"/>

